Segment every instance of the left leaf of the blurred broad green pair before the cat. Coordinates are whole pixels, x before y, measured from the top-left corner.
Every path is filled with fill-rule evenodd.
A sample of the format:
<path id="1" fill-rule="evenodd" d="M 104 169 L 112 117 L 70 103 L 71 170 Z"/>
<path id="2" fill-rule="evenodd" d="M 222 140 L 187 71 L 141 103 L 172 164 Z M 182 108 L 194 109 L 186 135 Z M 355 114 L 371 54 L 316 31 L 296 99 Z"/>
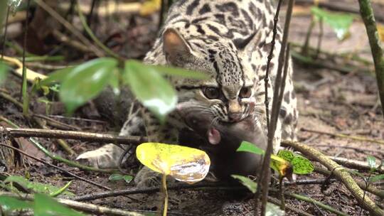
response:
<path id="1" fill-rule="evenodd" d="M 97 58 L 76 66 L 64 78 L 59 96 L 69 113 L 96 97 L 109 83 L 117 67 L 114 58 Z"/>

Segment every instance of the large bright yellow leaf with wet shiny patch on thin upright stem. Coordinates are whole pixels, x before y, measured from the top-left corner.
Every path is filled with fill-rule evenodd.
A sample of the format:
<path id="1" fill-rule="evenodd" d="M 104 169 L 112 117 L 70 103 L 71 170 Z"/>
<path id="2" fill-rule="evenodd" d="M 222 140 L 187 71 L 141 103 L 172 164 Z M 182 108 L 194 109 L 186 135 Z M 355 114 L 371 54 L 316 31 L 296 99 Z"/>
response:
<path id="1" fill-rule="evenodd" d="M 190 184 L 203 180 L 210 166 L 206 152 L 186 146 L 144 143 L 137 146 L 136 156 L 151 170 Z"/>

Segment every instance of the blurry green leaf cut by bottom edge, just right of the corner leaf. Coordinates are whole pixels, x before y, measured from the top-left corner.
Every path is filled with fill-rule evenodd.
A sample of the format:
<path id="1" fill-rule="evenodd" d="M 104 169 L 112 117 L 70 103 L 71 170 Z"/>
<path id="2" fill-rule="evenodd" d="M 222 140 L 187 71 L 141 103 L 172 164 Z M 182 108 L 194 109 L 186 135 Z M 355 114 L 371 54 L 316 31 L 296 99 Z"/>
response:
<path id="1" fill-rule="evenodd" d="M 52 215 L 65 215 L 65 216 L 84 216 L 80 212 L 71 210 L 59 202 L 53 200 L 48 195 L 36 194 L 35 205 L 33 207 L 33 213 L 35 216 L 52 216 Z"/>

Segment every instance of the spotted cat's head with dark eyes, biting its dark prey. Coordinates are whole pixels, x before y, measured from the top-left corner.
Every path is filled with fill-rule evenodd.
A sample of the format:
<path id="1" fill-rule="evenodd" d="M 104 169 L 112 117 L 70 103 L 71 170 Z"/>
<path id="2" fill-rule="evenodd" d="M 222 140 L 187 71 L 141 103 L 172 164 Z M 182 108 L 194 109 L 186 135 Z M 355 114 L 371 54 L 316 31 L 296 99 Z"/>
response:
<path id="1" fill-rule="evenodd" d="M 167 64 L 209 76 L 207 80 L 174 78 L 179 102 L 196 101 L 220 121 L 235 122 L 249 116 L 258 86 L 255 67 L 252 69 L 250 63 L 250 46 L 254 47 L 257 37 L 242 43 L 215 36 L 186 39 L 174 28 L 166 29 L 162 40 Z"/>

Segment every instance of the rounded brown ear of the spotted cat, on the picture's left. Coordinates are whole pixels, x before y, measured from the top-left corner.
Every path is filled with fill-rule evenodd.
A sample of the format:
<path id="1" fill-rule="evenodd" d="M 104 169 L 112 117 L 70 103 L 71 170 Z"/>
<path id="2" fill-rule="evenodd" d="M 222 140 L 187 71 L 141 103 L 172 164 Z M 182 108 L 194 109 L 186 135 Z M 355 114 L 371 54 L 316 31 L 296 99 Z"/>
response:
<path id="1" fill-rule="evenodd" d="M 166 61 L 171 65 L 182 67 L 188 60 L 191 60 L 191 47 L 174 28 L 164 31 L 163 43 Z"/>

